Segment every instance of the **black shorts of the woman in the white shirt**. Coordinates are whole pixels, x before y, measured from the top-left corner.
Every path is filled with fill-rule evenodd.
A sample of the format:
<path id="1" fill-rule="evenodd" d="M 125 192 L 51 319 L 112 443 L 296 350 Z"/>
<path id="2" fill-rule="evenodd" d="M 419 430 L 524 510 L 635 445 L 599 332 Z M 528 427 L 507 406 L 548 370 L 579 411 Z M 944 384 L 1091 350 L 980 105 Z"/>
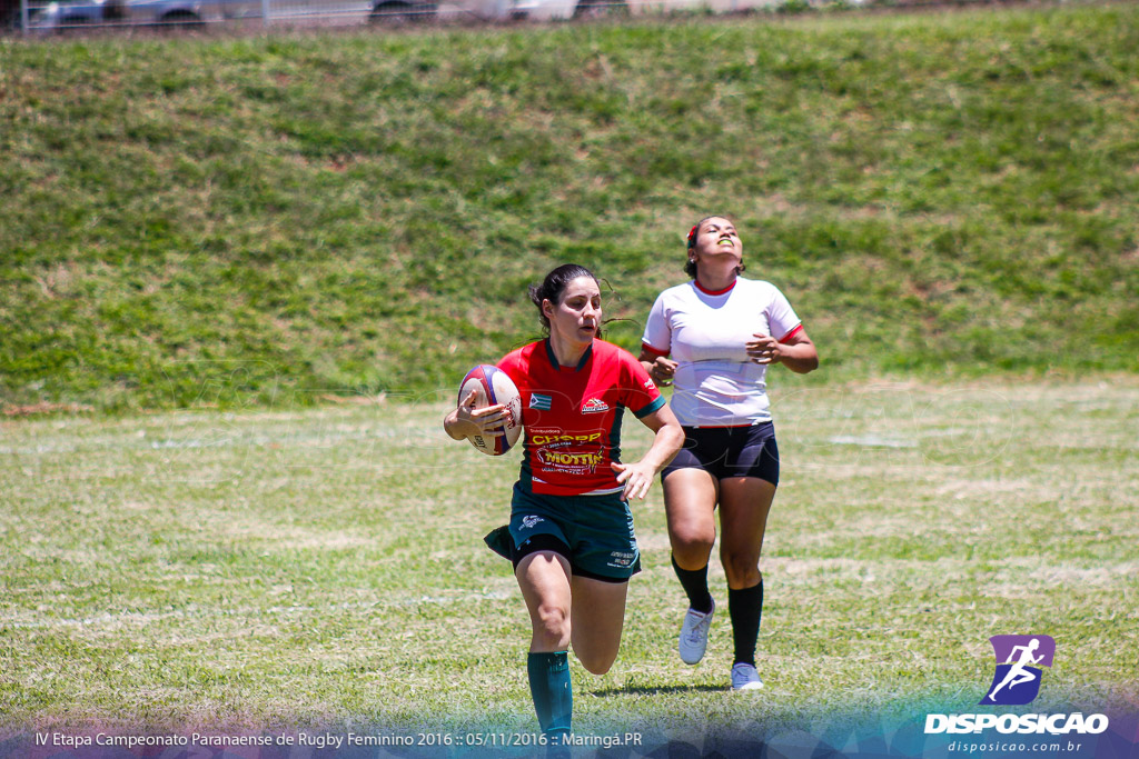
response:
<path id="1" fill-rule="evenodd" d="M 685 447 L 661 478 L 678 469 L 703 469 L 715 479 L 757 477 L 779 485 L 779 448 L 776 427 L 760 422 L 751 427 L 686 427 Z"/>

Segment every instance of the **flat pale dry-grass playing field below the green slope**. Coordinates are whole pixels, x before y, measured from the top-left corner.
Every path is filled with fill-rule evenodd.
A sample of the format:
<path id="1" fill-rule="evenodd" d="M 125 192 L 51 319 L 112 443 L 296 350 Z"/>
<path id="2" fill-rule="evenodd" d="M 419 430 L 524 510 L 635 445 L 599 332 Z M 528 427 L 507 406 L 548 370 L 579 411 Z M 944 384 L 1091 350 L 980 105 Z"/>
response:
<path id="1" fill-rule="evenodd" d="M 656 488 L 636 508 L 645 571 L 617 663 L 573 665 L 579 732 L 970 710 L 1003 633 L 1057 641 L 1034 710 L 1139 704 L 1133 377 L 780 373 L 775 398 L 765 690 L 726 691 L 724 621 L 699 667 L 675 657 Z M 481 542 L 517 462 L 448 440 L 446 403 L 0 422 L 0 739 L 533 731 L 524 608 Z"/>

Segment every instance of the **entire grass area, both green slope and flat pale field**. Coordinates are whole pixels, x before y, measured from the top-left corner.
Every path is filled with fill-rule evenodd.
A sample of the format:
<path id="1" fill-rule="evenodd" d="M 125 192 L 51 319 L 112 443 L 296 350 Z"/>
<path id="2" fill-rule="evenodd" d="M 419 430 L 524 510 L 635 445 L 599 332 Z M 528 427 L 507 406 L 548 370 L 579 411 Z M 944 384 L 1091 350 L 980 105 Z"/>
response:
<path id="1" fill-rule="evenodd" d="M 775 381 L 767 687 L 723 618 L 679 662 L 656 489 L 577 732 L 841 746 L 1029 633 L 1033 710 L 1139 719 L 1137 49 L 1131 2 L 0 38 L 0 759 L 532 732 L 517 459 L 441 416 L 556 264 L 636 348 L 708 212 L 823 361 Z"/>

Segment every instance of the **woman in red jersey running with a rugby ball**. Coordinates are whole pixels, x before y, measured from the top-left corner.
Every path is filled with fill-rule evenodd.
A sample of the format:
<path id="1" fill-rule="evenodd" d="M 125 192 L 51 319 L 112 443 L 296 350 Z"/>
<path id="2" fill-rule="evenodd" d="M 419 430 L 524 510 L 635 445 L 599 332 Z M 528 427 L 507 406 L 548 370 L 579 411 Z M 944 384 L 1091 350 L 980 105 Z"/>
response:
<path id="1" fill-rule="evenodd" d="M 589 270 L 559 266 L 530 297 L 549 337 L 498 364 L 522 394 L 525 430 L 510 523 L 487 543 L 514 562 L 532 626 L 531 694 L 557 744 L 571 729 L 571 644 L 598 675 L 621 644 L 629 578 L 640 570 L 629 498 L 645 497 L 683 432 L 644 366 L 599 339 L 601 292 Z M 474 402 L 470 394 L 446 415 L 448 435 L 501 435 L 505 407 Z M 655 432 L 629 464 L 620 462 L 625 409 Z"/>

